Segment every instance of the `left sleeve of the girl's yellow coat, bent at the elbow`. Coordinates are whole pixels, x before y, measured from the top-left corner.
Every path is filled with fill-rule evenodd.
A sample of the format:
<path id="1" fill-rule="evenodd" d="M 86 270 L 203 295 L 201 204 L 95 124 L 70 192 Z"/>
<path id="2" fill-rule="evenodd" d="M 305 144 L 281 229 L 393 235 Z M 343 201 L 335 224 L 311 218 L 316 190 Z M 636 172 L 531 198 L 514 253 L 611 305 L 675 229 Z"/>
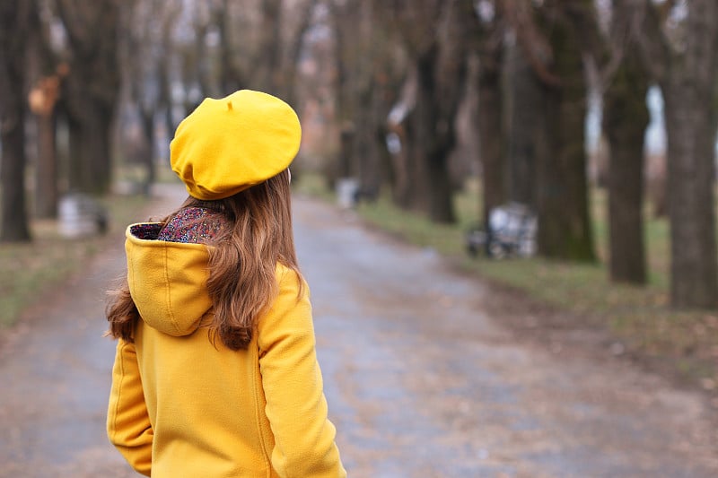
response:
<path id="1" fill-rule="evenodd" d="M 140 474 L 152 469 L 153 430 L 144 404 L 134 343 L 118 341 L 107 413 L 109 441 Z"/>

